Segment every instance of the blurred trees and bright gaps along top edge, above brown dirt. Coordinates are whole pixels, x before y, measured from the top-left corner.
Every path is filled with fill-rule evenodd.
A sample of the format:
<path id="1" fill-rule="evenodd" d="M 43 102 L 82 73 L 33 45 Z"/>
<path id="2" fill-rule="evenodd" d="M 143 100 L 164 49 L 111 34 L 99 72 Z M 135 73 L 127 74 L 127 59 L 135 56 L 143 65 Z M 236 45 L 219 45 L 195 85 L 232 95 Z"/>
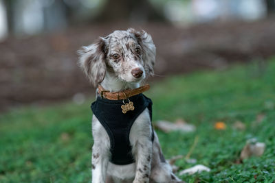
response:
<path id="1" fill-rule="evenodd" d="M 94 23 L 162 22 L 186 25 L 256 20 L 274 14 L 274 0 L 0 0 L 9 33 L 37 34 Z M 0 3 L 1 5 L 1 3 Z M 5 9 L 5 10 L 4 10 Z M 1 10 L 1 9 L 0 9 Z M 0 23 L 1 19 L 0 19 Z M 1 38 L 1 35 L 0 35 Z"/>

